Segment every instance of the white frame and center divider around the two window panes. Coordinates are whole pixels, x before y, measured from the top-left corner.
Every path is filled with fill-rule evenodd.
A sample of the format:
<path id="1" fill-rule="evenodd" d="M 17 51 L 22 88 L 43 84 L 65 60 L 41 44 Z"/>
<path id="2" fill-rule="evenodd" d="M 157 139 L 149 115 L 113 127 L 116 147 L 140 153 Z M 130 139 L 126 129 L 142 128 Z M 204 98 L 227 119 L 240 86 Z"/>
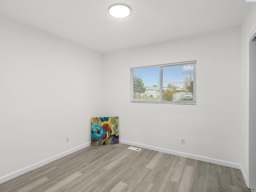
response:
<path id="1" fill-rule="evenodd" d="M 162 90 L 163 90 L 162 69 L 166 68 L 166 67 L 171 67 L 171 66 L 186 66 L 186 64 L 193 64 L 193 100 L 191 100 L 191 101 L 164 101 L 162 99 Z M 133 88 L 134 70 L 156 68 L 156 67 L 159 67 L 159 101 L 134 100 L 134 88 Z M 130 77 L 131 77 L 131 80 L 130 80 L 130 83 L 131 83 L 130 84 L 130 88 L 131 88 L 130 102 L 196 105 L 196 60 L 187 61 L 187 62 L 177 62 L 177 63 L 130 68 Z"/>

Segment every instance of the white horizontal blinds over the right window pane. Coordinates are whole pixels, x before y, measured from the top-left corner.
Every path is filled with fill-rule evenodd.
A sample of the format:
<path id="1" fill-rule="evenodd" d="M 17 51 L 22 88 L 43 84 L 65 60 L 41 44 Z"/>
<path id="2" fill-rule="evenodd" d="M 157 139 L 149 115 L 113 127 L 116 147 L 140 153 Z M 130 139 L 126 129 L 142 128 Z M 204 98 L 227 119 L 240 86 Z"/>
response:
<path id="1" fill-rule="evenodd" d="M 162 100 L 188 102 L 194 98 L 184 98 L 184 93 L 194 94 L 194 62 L 174 64 L 162 68 Z"/>

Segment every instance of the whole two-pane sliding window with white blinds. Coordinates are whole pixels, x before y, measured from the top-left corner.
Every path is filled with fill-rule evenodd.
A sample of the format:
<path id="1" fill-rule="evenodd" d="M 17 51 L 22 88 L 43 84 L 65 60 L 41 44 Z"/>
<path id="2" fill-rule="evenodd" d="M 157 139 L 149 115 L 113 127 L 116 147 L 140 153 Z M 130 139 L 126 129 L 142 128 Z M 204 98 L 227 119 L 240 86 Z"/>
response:
<path id="1" fill-rule="evenodd" d="M 196 104 L 196 61 L 131 68 L 131 102 Z"/>

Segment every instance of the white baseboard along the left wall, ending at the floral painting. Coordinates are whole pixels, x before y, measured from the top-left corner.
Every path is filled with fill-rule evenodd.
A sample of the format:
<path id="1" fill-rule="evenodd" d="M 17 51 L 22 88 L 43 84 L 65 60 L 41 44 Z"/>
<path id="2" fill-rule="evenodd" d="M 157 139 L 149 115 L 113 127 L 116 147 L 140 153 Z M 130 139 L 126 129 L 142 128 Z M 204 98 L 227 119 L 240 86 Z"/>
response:
<path id="1" fill-rule="evenodd" d="M 6 181 L 8 181 L 8 180 L 10 180 L 10 179 L 12 179 L 12 178 L 15 178 L 15 177 L 17 177 L 17 176 L 20 176 L 20 175 L 22 175 L 22 174 L 24 174 L 24 173 L 26 173 L 26 172 L 29 172 L 29 171 L 31 171 L 31 170 L 34 170 L 34 169 L 36 169 L 36 168 L 38 168 L 38 167 L 40 167 L 40 166 L 42 166 L 42 165 L 45 165 L 45 164 L 47 164 L 47 163 L 50 163 L 50 162 L 52 162 L 52 161 L 54 161 L 54 160 L 56 160 L 56 159 L 62 158 L 62 157 L 64 157 L 64 156 L 68 155 L 68 154 L 71 154 L 71 153 L 73 153 L 73 152 L 76 152 L 76 151 L 78 151 L 78 150 L 80 150 L 80 149 L 82 149 L 82 148 L 85 148 L 85 147 L 87 147 L 87 146 L 90 146 L 90 144 L 91 144 L 91 142 L 82 144 L 82 145 L 80 145 L 80 146 L 77 146 L 77 147 L 72 148 L 72 149 L 70 149 L 70 150 L 67 150 L 67 151 L 65 151 L 65 152 L 62 152 L 62 153 L 57 154 L 57 155 L 54 155 L 54 156 L 52 156 L 52 157 L 50 157 L 50 158 L 47 158 L 47 159 L 45 159 L 45 160 L 42 160 L 42 161 L 40 161 L 40 162 L 37 162 L 37 163 L 35 163 L 35 164 L 32 164 L 32 165 L 30 165 L 30 166 L 24 167 L 24 168 L 22 168 L 22 169 L 20 169 L 20 170 L 17 170 L 17 171 L 14 171 L 14 172 L 10 173 L 10 174 L 7 174 L 7 175 L 5 175 L 5 176 L 2 176 L 2 177 L 0 177 L 0 184 L 3 183 L 3 182 L 6 182 Z"/>

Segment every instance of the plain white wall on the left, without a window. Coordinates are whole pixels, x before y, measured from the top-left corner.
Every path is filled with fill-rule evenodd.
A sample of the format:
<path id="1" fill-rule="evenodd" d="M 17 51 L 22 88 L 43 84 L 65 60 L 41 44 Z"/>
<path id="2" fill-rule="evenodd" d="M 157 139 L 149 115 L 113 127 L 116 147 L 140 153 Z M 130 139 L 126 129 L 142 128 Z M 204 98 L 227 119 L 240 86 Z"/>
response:
<path id="1" fill-rule="evenodd" d="M 90 142 L 101 74 L 101 54 L 0 17 L 0 177 Z"/>

